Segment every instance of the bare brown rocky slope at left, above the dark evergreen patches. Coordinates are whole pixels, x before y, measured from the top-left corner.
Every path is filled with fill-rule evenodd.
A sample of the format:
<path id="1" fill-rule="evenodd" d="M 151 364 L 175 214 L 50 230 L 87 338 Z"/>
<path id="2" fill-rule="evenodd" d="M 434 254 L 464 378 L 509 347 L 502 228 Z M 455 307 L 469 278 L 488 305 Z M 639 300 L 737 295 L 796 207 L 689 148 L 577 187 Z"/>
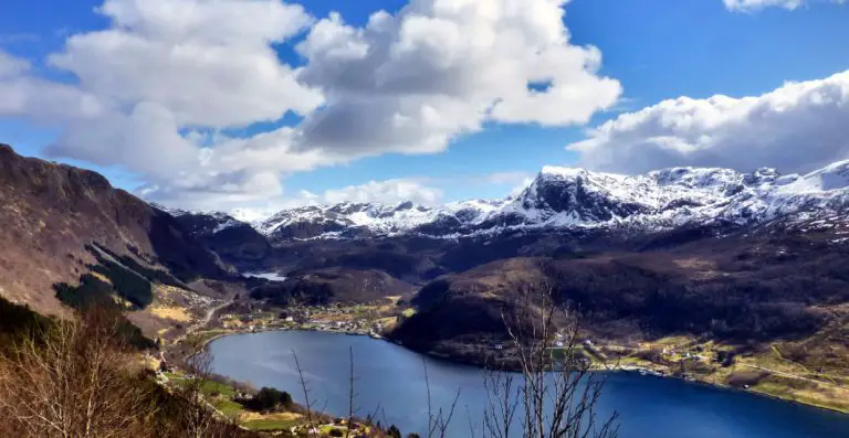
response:
<path id="1" fill-rule="evenodd" d="M 0 293 L 61 310 L 53 286 L 77 284 L 97 260 L 86 246 L 190 281 L 227 277 L 218 256 L 171 215 L 114 189 L 101 174 L 18 156 L 0 145 Z"/>

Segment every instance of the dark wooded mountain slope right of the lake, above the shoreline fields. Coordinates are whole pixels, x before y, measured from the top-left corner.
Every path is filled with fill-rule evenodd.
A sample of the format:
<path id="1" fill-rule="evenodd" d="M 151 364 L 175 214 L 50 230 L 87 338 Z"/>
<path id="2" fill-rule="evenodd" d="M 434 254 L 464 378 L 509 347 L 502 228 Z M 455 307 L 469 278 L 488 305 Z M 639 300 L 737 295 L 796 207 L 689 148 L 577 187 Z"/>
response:
<path id="1" fill-rule="evenodd" d="M 503 314 L 535 314 L 527 292 L 546 288 L 579 317 L 587 339 L 779 345 L 798 364 L 847 376 L 849 226 L 836 220 L 776 222 L 660 249 L 499 259 L 428 282 L 392 336 L 484 363 L 486 345 L 507 340 Z"/>

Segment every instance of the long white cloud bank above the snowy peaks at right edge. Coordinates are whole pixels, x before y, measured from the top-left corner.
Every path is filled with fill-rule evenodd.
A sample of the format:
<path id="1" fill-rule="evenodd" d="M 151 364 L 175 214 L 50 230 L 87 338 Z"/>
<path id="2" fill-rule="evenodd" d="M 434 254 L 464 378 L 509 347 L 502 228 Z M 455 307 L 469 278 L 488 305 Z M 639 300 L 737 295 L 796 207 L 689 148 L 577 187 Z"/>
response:
<path id="1" fill-rule="evenodd" d="M 761 96 L 681 97 L 623 114 L 568 149 L 581 165 L 638 173 L 674 165 L 809 171 L 849 159 L 849 71 Z"/>

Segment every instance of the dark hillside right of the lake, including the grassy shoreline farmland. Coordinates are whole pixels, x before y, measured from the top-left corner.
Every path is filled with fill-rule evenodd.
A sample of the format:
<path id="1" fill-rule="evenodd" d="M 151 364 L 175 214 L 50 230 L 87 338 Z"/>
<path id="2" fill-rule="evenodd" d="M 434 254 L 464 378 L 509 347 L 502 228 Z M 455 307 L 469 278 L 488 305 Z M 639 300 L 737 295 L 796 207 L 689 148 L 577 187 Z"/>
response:
<path id="1" fill-rule="evenodd" d="M 849 246 L 840 237 L 846 224 L 832 224 L 494 261 L 424 286 L 416 313 L 391 336 L 430 354 L 497 364 L 505 357 L 493 345 L 509 343 L 503 316 L 537 314 L 528 291 L 551 289 L 580 321 L 598 366 L 750 385 L 846 412 Z"/>

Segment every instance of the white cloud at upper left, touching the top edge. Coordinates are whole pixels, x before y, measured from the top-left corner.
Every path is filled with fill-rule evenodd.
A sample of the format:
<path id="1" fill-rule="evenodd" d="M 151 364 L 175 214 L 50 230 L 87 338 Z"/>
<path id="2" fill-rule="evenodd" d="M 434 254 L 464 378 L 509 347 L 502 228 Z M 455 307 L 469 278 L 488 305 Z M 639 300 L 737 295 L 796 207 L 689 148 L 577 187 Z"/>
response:
<path id="1" fill-rule="evenodd" d="M 151 103 L 179 126 L 244 126 L 312 111 L 318 92 L 298 84 L 271 43 L 304 29 L 300 6 L 262 0 L 107 0 L 109 29 L 73 35 L 50 63 L 116 106 Z"/>

